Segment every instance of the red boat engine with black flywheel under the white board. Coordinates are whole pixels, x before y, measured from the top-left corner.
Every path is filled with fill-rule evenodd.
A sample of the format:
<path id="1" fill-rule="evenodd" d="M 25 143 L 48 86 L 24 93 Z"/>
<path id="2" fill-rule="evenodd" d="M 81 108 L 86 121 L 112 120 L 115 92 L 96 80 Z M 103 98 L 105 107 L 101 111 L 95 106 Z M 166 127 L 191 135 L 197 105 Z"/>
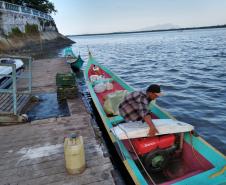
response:
<path id="1" fill-rule="evenodd" d="M 141 158 L 148 172 L 164 169 L 170 155 L 176 151 L 174 134 L 132 139 L 136 153 Z"/>

